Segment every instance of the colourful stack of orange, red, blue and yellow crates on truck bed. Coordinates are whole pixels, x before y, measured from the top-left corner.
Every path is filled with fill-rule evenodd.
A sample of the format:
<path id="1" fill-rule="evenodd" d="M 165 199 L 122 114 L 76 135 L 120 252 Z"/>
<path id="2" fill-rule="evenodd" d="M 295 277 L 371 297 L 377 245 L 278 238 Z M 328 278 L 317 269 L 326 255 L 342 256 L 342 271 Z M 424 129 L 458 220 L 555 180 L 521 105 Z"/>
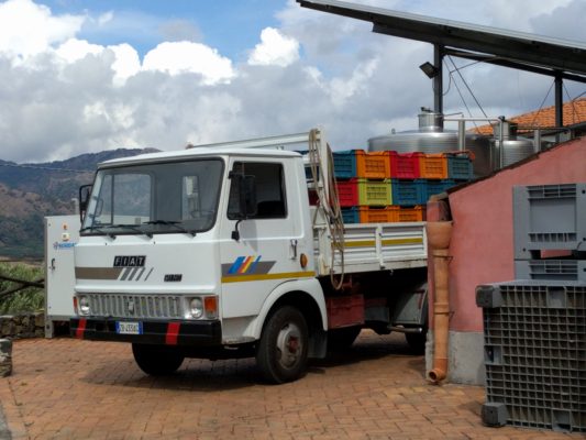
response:
<path id="1" fill-rule="evenodd" d="M 344 223 L 424 221 L 430 196 L 473 178 L 465 153 L 349 150 L 334 152 L 333 162 Z"/>

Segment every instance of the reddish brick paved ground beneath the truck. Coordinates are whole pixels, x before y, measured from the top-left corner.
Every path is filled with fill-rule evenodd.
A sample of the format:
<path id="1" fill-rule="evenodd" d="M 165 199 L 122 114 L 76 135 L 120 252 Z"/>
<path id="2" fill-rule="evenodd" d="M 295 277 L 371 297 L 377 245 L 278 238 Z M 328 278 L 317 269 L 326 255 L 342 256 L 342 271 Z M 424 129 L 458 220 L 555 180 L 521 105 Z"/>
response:
<path id="1" fill-rule="evenodd" d="M 483 427 L 484 389 L 428 385 L 401 336 L 363 332 L 350 353 L 280 386 L 261 384 L 251 360 L 188 360 L 152 378 L 119 343 L 23 340 L 13 355 L 0 402 L 14 439 L 584 438 Z"/>

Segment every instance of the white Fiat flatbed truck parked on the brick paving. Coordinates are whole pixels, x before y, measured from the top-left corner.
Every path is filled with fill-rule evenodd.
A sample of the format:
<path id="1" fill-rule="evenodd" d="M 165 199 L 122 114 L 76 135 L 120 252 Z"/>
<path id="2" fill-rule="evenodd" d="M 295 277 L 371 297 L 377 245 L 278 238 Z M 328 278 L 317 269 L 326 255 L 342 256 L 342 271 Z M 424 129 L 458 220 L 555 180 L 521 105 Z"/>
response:
<path id="1" fill-rule="evenodd" d="M 424 344 L 424 223 L 343 224 L 319 130 L 108 161 L 80 207 L 71 336 L 147 374 L 255 356 L 284 383 L 362 328 Z"/>

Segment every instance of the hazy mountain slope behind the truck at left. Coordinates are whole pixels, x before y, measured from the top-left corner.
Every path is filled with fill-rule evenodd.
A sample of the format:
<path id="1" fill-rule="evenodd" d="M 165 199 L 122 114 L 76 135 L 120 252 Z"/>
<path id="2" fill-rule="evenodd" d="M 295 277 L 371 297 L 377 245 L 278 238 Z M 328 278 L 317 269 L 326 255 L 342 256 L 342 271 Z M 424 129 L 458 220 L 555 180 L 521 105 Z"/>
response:
<path id="1" fill-rule="evenodd" d="M 98 163 L 155 151 L 119 148 L 38 164 L 0 160 L 0 256 L 43 257 L 43 217 L 74 213 L 71 199 L 92 182 Z"/>

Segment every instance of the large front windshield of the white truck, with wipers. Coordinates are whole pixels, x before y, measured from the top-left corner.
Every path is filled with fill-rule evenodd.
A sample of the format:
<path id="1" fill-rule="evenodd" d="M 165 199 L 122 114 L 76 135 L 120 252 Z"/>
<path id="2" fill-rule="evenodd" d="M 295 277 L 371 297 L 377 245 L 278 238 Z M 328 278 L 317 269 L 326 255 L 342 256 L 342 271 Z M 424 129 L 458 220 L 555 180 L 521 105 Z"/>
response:
<path id="1" fill-rule="evenodd" d="M 218 211 L 219 158 L 98 170 L 82 234 L 203 232 Z"/>

